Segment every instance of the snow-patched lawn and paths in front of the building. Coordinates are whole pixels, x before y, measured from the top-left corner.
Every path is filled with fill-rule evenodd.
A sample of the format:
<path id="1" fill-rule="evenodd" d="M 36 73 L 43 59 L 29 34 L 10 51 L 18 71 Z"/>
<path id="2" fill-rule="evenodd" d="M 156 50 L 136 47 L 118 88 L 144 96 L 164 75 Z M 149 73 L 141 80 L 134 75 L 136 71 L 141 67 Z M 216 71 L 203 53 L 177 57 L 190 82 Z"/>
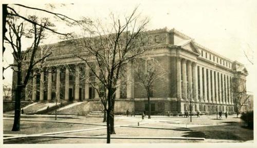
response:
<path id="1" fill-rule="evenodd" d="M 26 116 L 21 131 L 12 132 L 13 118 L 4 118 L 4 143 L 105 143 L 106 126 L 102 118 Z M 139 123 L 139 126 L 138 126 Z M 242 128 L 240 118 L 229 116 L 115 117 L 112 143 L 176 143 L 176 142 L 245 142 L 253 139 L 253 130 Z"/>

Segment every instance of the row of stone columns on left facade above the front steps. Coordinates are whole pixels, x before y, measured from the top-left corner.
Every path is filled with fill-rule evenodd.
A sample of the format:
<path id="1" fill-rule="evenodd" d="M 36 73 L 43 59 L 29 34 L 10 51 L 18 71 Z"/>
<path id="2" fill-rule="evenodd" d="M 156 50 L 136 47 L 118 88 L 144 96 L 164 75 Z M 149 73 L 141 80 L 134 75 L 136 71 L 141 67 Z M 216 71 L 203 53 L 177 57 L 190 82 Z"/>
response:
<path id="1" fill-rule="evenodd" d="M 133 70 L 132 64 L 129 63 L 127 69 L 127 98 L 134 98 L 134 77 L 133 77 Z M 86 65 L 86 70 L 88 70 L 88 66 Z M 75 77 L 75 100 L 79 100 L 79 89 L 80 89 L 80 67 L 79 65 L 76 66 L 76 77 Z M 96 66 L 96 72 L 99 73 L 99 69 Z M 47 81 L 47 100 L 52 99 L 52 69 L 48 68 L 48 81 Z M 60 99 L 60 91 L 61 91 L 61 79 L 60 79 L 61 68 L 57 67 L 57 74 L 56 74 L 56 98 Z M 65 100 L 69 100 L 69 69 L 65 69 Z M 36 75 L 36 71 L 33 71 L 33 75 Z M 86 78 L 88 78 L 89 73 L 85 72 Z M 118 80 L 118 83 L 120 81 Z M 85 99 L 89 98 L 89 84 L 85 80 Z M 95 93 L 95 98 L 99 98 L 99 94 Z M 120 87 L 116 90 L 116 98 L 120 98 Z M 34 76 L 32 79 L 32 100 L 36 100 L 36 77 Z M 44 100 L 44 72 L 41 73 L 40 76 L 40 100 Z"/>

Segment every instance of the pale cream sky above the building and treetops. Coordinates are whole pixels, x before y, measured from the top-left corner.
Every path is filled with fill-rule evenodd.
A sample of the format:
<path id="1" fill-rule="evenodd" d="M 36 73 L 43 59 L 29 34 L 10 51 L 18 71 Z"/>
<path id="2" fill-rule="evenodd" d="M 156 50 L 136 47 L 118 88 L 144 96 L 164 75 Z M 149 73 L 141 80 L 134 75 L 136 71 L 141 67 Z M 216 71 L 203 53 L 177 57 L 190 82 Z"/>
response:
<path id="1" fill-rule="evenodd" d="M 45 5 L 35 1 L 22 1 L 24 5 L 45 8 Z M 25 3 L 26 2 L 26 3 Z M 64 3 L 63 1 L 43 1 L 43 3 Z M 256 1 L 66 1 L 66 6 L 58 6 L 53 12 L 65 14 L 72 18 L 81 16 L 93 20 L 99 19 L 105 23 L 112 12 L 122 18 L 130 14 L 138 6 L 142 17 L 149 17 L 147 29 L 167 27 L 192 37 L 196 43 L 207 47 L 231 60 L 242 62 L 249 75 L 247 76 L 247 90 L 256 90 L 256 66 L 252 65 L 244 55 L 255 62 L 254 55 L 257 47 L 257 2 Z M 70 5 L 70 3 L 74 3 Z M 20 10 L 24 14 L 45 16 L 41 12 Z M 60 22 L 58 31 L 69 31 Z M 49 36 L 45 44 L 55 43 L 56 35 Z M 24 49 L 31 41 L 26 40 Z M 13 58 L 10 50 L 4 54 L 4 65 L 11 64 Z M 255 62 L 256 63 L 256 62 Z M 11 69 L 4 73 L 4 83 L 12 81 Z"/>

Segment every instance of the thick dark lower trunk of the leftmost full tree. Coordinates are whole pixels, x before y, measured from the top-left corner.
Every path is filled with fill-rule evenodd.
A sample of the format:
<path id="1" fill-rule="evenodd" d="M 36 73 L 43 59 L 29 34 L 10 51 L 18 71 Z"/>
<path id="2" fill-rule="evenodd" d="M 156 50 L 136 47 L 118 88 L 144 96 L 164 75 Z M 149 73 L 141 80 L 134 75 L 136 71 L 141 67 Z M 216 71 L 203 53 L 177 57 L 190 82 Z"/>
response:
<path id="1" fill-rule="evenodd" d="M 17 72 L 17 87 L 15 93 L 15 107 L 14 107 L 14 121 L 12 126 L 12 131 L 20 131 L 20 120 L 21 120 L 21 97 L 22 89 L 21 86 L 21 71 Z"/>

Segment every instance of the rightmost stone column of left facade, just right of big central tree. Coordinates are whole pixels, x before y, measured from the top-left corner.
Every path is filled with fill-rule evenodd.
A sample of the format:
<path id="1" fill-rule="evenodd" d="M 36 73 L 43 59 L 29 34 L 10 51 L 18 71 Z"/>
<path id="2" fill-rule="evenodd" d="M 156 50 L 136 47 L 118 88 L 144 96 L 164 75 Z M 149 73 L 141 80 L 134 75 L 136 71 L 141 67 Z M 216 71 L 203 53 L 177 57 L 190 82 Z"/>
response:
<path id="1" fill-rule="evenodd" d="M 134 72 L 133 64 L 127 64 L 127 98 L 134 98 Z"/>

